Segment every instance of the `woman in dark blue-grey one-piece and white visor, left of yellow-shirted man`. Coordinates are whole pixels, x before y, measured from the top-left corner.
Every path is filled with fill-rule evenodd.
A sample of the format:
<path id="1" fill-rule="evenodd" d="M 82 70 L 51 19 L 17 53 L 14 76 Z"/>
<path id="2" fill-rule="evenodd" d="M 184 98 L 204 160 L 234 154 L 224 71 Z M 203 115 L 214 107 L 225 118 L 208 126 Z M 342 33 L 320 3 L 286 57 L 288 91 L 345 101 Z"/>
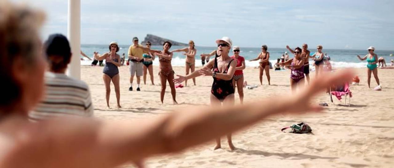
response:
<path id="1" fill-rule="evenodd" d="M 116 42 L 111 42 L 109 46 L 110 52 L 105 53 L 103 55 L 99 55 L 95 52 L 95 59 L 96 60 L 104 60 L 105 59 L 105 66 L 102 71 L 104 73 L 102 75 L 102 79 L 104 80 L 105 90 L 106 90 L 106 100 L 107 106 L 110 108 L 110 93 L 111 93 L 111 80 L 113 82 L 113 86 L 115 86 L 115 93 L 116 93 L 116 101 L 118 108 L 122 108 L 120 105 L 120 91 L 119 91 L 119 69 L 118 66 L 121 66 L 121 57 L 117 54 L 119 51 L 119 46 Z"/>

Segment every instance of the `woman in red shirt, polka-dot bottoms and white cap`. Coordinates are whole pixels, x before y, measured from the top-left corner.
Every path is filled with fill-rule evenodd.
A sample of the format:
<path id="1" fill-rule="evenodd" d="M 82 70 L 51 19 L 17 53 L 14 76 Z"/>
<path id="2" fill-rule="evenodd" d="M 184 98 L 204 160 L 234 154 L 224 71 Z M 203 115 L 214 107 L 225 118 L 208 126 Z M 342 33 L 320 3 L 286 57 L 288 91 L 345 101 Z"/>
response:
<path id="1" fill-rule="evenodd" d="M 243 69 L 245 69 L 245 58 L 240 56 L 240 47 L 232 47 L 234 53 L 231 56 L 232 59 L 237 61 L 237 66 L 235 68 L 234 79 L 232 80 L 232 85 L 237 86 L 238 95 L 240 95 L 241 104 L 243 104 Z M 235 89 L 234 89 L 235 90 Z"/>

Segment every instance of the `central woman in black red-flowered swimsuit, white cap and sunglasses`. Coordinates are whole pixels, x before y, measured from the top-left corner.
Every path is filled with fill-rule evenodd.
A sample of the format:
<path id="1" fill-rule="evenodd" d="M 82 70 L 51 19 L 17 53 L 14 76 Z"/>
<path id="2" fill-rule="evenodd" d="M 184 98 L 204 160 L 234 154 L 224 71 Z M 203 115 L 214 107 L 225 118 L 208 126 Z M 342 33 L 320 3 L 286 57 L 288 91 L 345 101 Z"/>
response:
<path id="1" fill-rule="evenodd" d="M 221 105 L 221 102 L 223 102 L 223 106 L 233 106 L 234 86 L 232 84 L 232 78 L 234 76 L 237 62 L 229 57 L 232 42 L 230 38 L 223 37 L 216 40 L 216 43 L 219 55 L 221 56 L 210 60 L 203 69 L 186 76 L 177 75 L 178 78 L 174 79 L 174 82 L 182 83 L 187 79 L 199 77 L 201 75 L 212 76 L 214 78 L 214 82 L 212 83 L 211 89 L 211 105 L 217 107 Z M 212 68 L 213 71 L 211 71 Z M 234 150 L 235 147 L 232 144 L 231 134 L 227 135 L 227 141 L 229 142 L 230 149 Z M 216 139 L 216 146 L 214 150 L 219 148 L 221 148 L 220 137 Z"/>

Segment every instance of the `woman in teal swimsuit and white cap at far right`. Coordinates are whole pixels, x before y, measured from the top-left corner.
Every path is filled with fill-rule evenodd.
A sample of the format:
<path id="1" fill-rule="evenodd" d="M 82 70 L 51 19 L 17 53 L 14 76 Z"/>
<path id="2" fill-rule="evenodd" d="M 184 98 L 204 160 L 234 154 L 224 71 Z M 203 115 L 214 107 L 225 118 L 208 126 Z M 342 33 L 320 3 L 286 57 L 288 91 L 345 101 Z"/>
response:
<path id="1" fill-rule="evenodd" d="M 375 51 L 375 47 L 369 47 L 368 48 L 368 52 L 369 54 L 365 55 L 364 58 L 361 58 L 360 55 L 357 55 L 357 57 L 360 60 L 367 60 L 368 64 L 367 64 L 367 74 L 368 74 L 368 87 L 371 88 L 370 83 L 371 83 L 371 72 L 374 73 L 374 77 L 376 80 L 377 85 L 380 86 L 380 82 L 379 82 L 379 78 L 377 77 L 377 55 L 374 53 Z"/>

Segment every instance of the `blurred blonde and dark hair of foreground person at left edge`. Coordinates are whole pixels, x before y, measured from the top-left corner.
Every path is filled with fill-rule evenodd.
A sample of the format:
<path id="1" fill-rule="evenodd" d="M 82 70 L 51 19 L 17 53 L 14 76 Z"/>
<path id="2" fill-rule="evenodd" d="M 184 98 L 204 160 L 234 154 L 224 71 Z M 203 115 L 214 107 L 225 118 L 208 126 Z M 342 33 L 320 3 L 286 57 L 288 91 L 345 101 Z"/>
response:
<path id="1" fill-rule="evenodd" d="M 21 89 L 10 72 L 16 57 L 22 57 L 26 66 L 34 66 L 34 55 L 41 49 L 39 28 L 45 20 L 42 11 L 30 9 L 27 5 L 16 5 L 7 0 L 0 1 L 0 79 L 4 97 L 0 107 L 10 106 L 20 99 Z"/>

